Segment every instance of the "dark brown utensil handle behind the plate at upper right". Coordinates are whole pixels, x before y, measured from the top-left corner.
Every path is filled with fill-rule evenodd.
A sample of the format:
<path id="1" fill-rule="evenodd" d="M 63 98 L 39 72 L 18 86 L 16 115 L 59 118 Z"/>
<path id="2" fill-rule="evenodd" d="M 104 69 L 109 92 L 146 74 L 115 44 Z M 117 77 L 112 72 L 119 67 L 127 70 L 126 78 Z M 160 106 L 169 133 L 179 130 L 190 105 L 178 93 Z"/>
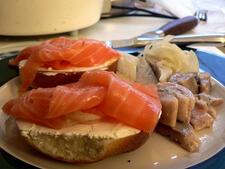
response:
<path id="1" fill-rule="evenodd" d="M 198 24 L 195 16 L 186 16 L 163 25 L 155 32 L 160 35 L 179 35 L 193 29 Z"/>

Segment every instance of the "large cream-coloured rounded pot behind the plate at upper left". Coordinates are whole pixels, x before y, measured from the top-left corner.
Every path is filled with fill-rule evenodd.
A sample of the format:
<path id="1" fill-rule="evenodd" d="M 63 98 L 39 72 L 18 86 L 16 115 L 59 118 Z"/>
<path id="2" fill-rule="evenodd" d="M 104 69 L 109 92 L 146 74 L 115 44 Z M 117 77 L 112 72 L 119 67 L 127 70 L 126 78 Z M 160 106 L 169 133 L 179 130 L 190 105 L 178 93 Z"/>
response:
<path id="1" fill-rule="evenodd" d="M 0 35 L 62 33 L 95 24 L 104 0 L 0 0 Z"/>

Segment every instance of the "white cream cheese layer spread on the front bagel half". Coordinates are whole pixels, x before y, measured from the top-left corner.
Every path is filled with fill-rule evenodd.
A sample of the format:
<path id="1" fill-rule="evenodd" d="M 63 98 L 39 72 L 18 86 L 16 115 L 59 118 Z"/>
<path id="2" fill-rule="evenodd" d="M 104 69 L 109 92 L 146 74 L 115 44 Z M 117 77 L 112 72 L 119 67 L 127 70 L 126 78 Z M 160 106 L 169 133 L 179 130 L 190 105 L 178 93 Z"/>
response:
<path id="1" fill-rule="evenodd" d="M 98 115 L 76 112 L 73 119 L 78 119 L 77 124 L 62 128 L 51 129 L 44 126 L 39 126 L 33 123 L 17 120 L 19 129 L 26 135 L 26 133 L 42 133 L 49 135 L 64 135 L 66 137 L 72 137 L 73 135 L 88 135 L 96 138 L 123 138 L 129 135 L 134 135 L 141 132 L 138 129 L 127 126 L 123 123 L 106 121 Z"/>

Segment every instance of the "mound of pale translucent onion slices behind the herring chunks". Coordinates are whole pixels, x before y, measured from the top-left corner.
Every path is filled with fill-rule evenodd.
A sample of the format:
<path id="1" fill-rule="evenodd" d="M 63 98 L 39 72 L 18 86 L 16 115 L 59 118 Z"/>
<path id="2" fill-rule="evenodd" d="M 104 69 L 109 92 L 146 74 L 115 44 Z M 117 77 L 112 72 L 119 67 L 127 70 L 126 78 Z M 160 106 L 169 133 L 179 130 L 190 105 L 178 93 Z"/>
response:
<path id="1" fill-rule="evenodd" d="M 154 42 L 144 49 L 144 57 L 151 64 L 160 82 L 176 73 L 198 72 L 198 58 L 193 51 L 184 51 L 166 41 Z"/>

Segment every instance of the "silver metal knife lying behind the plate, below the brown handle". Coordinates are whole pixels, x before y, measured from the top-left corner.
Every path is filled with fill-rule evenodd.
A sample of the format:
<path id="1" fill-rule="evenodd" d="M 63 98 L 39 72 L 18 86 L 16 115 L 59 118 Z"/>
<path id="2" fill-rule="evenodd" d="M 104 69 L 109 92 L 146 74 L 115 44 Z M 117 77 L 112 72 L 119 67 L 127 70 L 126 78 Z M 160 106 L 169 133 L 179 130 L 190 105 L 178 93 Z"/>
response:
<path id="1" fill-rule="evenodd" d="M 141 35 L 132 39 L 105 41 L 105 43 L 112 48 L 143 47 L 152 41 L 163 40 L 163 38 Z M 223 47 L 225 46 L 225 33 L 177 35 L 171 37 L 169 41 L 177 45 L 198 44 Z"/>

